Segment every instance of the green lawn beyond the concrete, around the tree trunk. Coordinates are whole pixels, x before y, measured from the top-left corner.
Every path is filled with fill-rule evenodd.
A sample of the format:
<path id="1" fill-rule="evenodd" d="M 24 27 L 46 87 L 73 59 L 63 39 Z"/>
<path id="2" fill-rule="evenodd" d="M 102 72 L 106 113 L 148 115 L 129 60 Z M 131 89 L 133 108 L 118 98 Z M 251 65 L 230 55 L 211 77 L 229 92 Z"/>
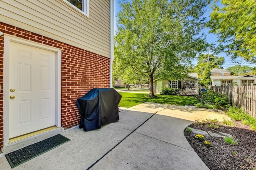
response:
<path id="1" fill-rule="evenodd" d="M 122 95 L 122 99 L 120 101 L 119 107 L 132 107 L 144 102 L 154 102 L 179 106 L 194 105 L 195 103 L 199 103 L 196 98 L 188 96 L 156 95 L 158 98 L 148 98 L 148 94 L 126 92 L 120 92 L 120 94 Z"/>

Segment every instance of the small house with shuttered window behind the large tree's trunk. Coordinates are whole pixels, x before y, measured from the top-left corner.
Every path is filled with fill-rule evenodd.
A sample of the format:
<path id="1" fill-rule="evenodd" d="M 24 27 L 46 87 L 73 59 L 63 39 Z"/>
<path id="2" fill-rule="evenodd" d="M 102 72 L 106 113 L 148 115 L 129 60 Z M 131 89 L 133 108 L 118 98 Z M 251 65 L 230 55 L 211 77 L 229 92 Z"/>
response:
<path id="1" fill-rule="evenodd" d="M 155 94 L 160 94 L 161 89 L 163 86 L 170 87 L 172 89 L 180 89 L 179 92 L 181 95 L 197 95 L 198 94 L 198 82 L 199 82 L 198 74 L 197 73 L 189 73 L 183 80 L 161 80 L 156 79 L 153 80 L 154 82 L 154 91 Z M 183 82 L 184 81 L 194 81 L 195 86 L 192 89 L 184 89 L 182 90 Z"/>

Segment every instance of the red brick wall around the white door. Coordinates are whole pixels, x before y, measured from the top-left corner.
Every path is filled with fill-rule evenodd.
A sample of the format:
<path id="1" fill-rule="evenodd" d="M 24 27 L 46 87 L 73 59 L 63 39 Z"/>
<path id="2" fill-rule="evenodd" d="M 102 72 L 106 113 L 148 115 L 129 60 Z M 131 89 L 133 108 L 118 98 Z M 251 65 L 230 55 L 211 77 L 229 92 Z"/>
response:
<path id="1" fill-rule="evenodd" d="M 0 31 L 37 43 L 62 49 L 61 124 L 64 128 L 78 125 L 80 112 L 76 99 L 92 88 L 109 87 L 110 59 L 102 55 L 56 41 L 0 22 Z M 0 82 L 3 84 L 4 37 L 0 36 Z M 3 87 L 1 87 L 3 89 Z M 0 92 L 0 148 L 3 146 L 3 93 Z"/>

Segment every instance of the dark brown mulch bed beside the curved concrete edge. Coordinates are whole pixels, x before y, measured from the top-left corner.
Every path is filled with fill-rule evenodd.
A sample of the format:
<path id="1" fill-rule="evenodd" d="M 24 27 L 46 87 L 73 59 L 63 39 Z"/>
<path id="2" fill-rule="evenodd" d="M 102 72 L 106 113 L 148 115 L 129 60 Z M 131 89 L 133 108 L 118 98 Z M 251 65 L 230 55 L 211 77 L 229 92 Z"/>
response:
<path id="1" fill-rule="evenodd" d="M 245 127 L 228 127 L 221 125 L 219 129 L 206 126 L 207 123 L 193 123 L 188 127 L 211 131 L 220 134 L 228 133 L 238 141 L 238 145 L 228 145 L 222 137 L 204 137 L 211 142 L 211 147 L 204 145 L 204 140 L 195 138 L 195 133 L 184 130 L 184 135 L 198 156 L 210 170 L 254 170 L 256 169 L 256 131 Z M 240 123 L 241 124 L 241 123 Z M 241 127 L 241 125 L 240 125 Z"/>

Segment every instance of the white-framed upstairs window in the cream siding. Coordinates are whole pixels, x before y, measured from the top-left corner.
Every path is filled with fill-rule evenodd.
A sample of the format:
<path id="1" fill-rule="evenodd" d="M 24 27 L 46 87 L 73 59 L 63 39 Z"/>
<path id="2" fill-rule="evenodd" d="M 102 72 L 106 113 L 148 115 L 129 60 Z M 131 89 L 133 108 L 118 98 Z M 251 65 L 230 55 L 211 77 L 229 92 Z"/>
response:
<path id="1" fill-rule="evenodd" d="M 70 6 L 75 8 L 76 10 L 86 14 L 86 16 L 89 16 L 89 0 L 64 0 L 65 2 L 68 2 Z"/>

